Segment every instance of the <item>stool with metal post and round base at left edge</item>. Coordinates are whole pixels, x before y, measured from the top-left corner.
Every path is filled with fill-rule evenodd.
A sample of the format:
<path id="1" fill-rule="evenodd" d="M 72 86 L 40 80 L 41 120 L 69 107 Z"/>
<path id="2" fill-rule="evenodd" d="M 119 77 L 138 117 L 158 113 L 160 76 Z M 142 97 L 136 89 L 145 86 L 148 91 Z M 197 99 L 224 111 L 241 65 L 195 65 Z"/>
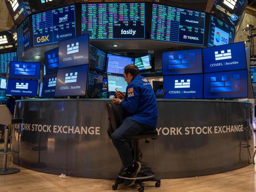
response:
<path id="1" fill-rule="evenodd" d="M 19 153 L 19 151 L 8 150 L 9 127 L 7 125 L 18 123 L 22 123 L 22 119 L 11 118 L 11 113 L 6 105 L 0 105 L 0 124 L 6 125 L 4 130 L 4 150 L 0 150 L 0 155 L 4 155 L 3 168 L 0 168 L 0 175 L 14 174 L 20 172 L 19 168 L 6 168 L 7 155 Z"/>

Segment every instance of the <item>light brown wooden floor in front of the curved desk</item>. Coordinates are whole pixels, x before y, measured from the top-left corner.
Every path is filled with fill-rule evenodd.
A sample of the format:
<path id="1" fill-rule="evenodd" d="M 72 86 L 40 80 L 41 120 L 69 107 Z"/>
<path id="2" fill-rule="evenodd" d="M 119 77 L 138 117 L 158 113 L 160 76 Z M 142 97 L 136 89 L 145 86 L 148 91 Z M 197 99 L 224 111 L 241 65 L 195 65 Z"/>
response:
<path id="1" fill-rule="evenodd" d="M 0 148 L 2 148 L 0 144 Z M 0 167 L 2 167 L 0 156 Z M 19 167 L 8 158 L 7 167 L 18 167 L 20 172 L 0 175 L 0 192 L 113 192 L 113 180 L 85 179 L 45 174 Z M 163 179 L 161 187 L 154 182 L 145 183 L 145 192 L 256 192 L 256 168 L 253 164 L 222 174 Z M 138 186 L 121 186 L 117 192 L 137 192 Z"/>

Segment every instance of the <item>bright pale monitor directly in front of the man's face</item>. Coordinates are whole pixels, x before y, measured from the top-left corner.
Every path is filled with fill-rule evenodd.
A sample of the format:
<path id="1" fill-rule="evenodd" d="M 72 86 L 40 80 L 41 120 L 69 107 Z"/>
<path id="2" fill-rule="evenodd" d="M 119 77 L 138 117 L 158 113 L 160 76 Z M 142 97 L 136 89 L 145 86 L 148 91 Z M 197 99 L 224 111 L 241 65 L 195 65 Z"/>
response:
<path id="1" fill-rule="evenodd" d="M 117 88 L 121 92 L 126 92 L 127 83 L 123 76 L 107 75 L 108 76 L 108 91 L 116 92 Z"/>

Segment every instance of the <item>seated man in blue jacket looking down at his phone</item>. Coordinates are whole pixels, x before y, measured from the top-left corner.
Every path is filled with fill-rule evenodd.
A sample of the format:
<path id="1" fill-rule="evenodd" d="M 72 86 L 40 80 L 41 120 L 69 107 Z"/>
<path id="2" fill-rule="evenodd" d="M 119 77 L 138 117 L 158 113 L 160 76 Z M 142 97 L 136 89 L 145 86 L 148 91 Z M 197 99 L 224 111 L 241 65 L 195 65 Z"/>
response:
<path id="1" fill-rule="evenodd" d="M 128 84 L 126 94 L 116 92 L 117 98 L 112 101 L 122 106 L 125 119 L 113 132 L 111 139 L 126 170 L 126 177 L 134 178 L 141 169 L 141 164 L 133 162 L 127 140 L 143 131 L 156 129 L 158 109 L 154 91 L 147 78 L 139 75 L 137 66 L 127 65 L 124 68 L 124 79 Z M 132 185 L 134 182 L 134 179 L 126 179 L 124 185 Z"/>

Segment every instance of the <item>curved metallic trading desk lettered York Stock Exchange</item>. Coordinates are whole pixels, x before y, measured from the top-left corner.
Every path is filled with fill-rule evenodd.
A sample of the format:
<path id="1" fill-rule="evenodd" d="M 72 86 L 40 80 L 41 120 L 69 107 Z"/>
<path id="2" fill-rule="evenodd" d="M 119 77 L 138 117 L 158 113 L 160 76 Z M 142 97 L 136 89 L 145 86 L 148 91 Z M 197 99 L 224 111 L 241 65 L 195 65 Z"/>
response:
<path id="1" fill-rule="evenodd" d="M 114 179 L 121 161 L 107 134 L 108 99 L 17 101 L 13 162 L 51 174 Z M 141 140 L 143 162 L 161 179 L 247 166 L 254 151 L 249 102 L 158 100 L 159 137 Z M 249 148 L 241 148 L 245 144 Z M 251 155 L 251 156 L 250 156 Z"/>

